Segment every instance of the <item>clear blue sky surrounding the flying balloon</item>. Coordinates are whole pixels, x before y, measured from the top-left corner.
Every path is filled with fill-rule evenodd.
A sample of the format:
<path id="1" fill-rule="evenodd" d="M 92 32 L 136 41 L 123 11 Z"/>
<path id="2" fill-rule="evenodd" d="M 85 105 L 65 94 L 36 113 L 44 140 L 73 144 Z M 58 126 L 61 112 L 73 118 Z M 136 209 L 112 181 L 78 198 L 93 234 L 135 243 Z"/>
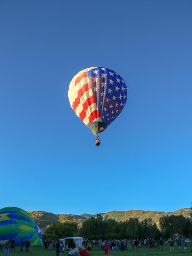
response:
<path id="1" fill-rule="evenodd" d="M 72 111 L 86 67 L 128 87 L 102 145 Z M 192 1 L 0 1 L 0 207 L 174 211 L 192 199 Z"/>

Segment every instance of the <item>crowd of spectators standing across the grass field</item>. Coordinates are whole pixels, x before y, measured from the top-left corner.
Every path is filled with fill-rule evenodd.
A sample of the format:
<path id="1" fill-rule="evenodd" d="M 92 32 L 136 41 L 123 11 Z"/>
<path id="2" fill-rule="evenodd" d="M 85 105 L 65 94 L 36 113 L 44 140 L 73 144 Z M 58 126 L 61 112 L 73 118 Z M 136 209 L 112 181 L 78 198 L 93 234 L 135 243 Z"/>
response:
<path id="1" fill-rule="evenodd" d="M 52 240 L 52 239 L 45 239 L 43 241 L 44 247 L 47 250 L 53 249 L 56 251 L 56 256 L 59 256 L 60 253 L 64 253 L 65 250 L 69 250 L 68 256 L 90 256 L 89 252 L 93 247 L 99 247 L 100 250 L 103 250 L 105 255 L 109 255 L 111 250 L 117 250 L 126 252 L 128 250 L 128 244 L 131 245 L 133 250 L 138 250 L 139 247 L 144 248 L 157 248 L 163 250 L 164 244 L 169 245 L 169 250 L 175 250 L 174 246 L 177 245 L 179 249 L 181 249 L 181 239 L 108 239 L 108 240 L 88 240 L 84 239 L 82 242 L 82 246 L 76 248 L 76 244 L 74 241 L 72 241 L 71 244 L 64 244 L 64 242 L 60 239 L 58 240 Z M 184 239 L 184 251 L 186 252 L 189 248 L 187 247 L 187 241 Z M 24 246 L 25 251 L 29 252 L 30 247 L 30 241 L 27 239 L 27 241 L 24 241 L 24 239 L 20 242 L 20 252 L 23 252 Z M 15 239 L 9 239 L 6 241 L 0 240 L 0 251 L 3 251 L 3 248 L 5 248 L 5 256 L 9 256 L 9 252 L 13 251 L 15 252 Z M 192 245 L 191 245 L 191 251 L 192 251 Z"/>

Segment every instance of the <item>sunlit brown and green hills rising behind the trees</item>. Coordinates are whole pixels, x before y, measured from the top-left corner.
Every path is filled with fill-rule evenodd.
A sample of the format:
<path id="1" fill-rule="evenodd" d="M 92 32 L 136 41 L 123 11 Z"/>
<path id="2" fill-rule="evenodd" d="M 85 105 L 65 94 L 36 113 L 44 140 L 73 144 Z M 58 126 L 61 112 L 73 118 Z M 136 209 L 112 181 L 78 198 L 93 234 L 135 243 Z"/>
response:
<path id="1" fill-rule="evenodd" d="M 143 221 L 145 218 L 151 218 L 154 222 L 159 223 L 159 218 L 162 215 L 183 215 L 186 218 L 189 218 L 189 212 L 191 208 L 179 209 L 175 212 L 155 212 L 155 211 L 145 211 L 145 210 L 129 210 L 129 211 L 111 211 L 107 213 L 100 213 L 104 219 L 115 219 L 116 221 L 125 221 L 131 217 L 139 218 L 140 221 Z M 44 232 L 49 225 L 55 222 L 64 223 L 66 221 L 76 222 L 79 227 L 81 227 L 82 222 L 88 218 L 95 218 L 96 214 L 87 214 L 83 213 L 81 215 L 75 214 L 54 214 L 52 212 L 42 212 L 42 211 L 32 211 L 29 212 L 35 221 L 38 223 L 38 226 Z"/>

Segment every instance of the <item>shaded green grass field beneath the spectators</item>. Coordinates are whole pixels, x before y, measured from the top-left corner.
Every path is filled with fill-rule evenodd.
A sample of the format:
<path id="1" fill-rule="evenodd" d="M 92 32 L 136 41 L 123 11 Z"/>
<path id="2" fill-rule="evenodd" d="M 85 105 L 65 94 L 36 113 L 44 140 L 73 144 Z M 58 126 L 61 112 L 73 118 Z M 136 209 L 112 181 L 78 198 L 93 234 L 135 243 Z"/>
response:
<path id="1" fill-rule="evenodd" d="M 183 244 L 181 246 L 181 250 L 178 249 L 177 245 L 174 245 L 174 251 L 169 251 L 169 247 L 167 244 L 164 245 L 164 250 L 160 249 L 146 249 L 146 248 L 138 248 L 138 250 L 133 250 L 132 246 L 128 243 L 128 250 L 127 252 L 121 252 L 121 251 L 111 251 L 110 256 L 144 256 L 144 253 L 146 256 L 155 256 L 155 253 L 157 256 L 185 256 L 185 255 L 192 255 L 191 252 L 191 245 L 192 243 L 187 244 L 189 249 L 185 253 L 183 250 Z M 24 248 L 25 249 L 25 248 Z M 10 252 L 9 256 L 55 256 L 55 250 L 45 250 L 44 247 L 30 247 L 29 253 L 23 252 L 21 253 L 20 247 L 15 247 L 15 253 Z M 0 256 L 4 255 L 3 252 L 0 252 Z M 64 254 L 60 254 L 60 256 L 68 256 L 68 251 L 65 251 Z M 93 248 L 90 252 L 90 256 L 105 256 L 105 253 L 103 250 L 100 250 L 99 248 Z"/>

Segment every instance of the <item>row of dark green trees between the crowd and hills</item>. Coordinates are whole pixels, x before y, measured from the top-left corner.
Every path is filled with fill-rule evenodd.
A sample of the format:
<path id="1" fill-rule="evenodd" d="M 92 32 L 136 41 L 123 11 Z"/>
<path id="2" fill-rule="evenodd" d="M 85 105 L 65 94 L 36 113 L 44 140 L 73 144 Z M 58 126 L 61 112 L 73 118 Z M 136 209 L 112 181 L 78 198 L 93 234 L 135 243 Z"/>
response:
<path id="1" fill-rule="evenodd" d="M 175 233 L 185 237 L 192 236 L 192 214 L 191 218 L 185 218 L 183 215 L 163 215 L 160 217 L 159 227 L 151 218 L 145 218 L 143 221 L 139 221 L 139 218 L 130 218 L 118 222 L 103 219 L 102 215 L 98 214 L 96 218 L 83 221 L 81 227 L 74 222 L 54 223 L 47 228 L 44 238 L 81 236 L 87 239 L 160 239 L 172 237 Z"/>

